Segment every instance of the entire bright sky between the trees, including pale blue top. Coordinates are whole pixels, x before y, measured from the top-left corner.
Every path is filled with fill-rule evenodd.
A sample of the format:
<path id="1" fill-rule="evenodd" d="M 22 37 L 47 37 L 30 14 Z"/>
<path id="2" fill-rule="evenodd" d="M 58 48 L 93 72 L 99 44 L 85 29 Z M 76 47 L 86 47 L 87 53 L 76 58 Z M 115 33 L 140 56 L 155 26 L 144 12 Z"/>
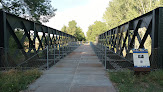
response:
<path id="1" fill-rule="evenodd" d="M 103 21 L 103 14 L 110 0 L 51 0 L 51 4 L 57 9 L 55 16 L 45 25 L 61 30 L 71 20 L 77 22 L 84 34 L 88 27 L 95 21 Z"/>

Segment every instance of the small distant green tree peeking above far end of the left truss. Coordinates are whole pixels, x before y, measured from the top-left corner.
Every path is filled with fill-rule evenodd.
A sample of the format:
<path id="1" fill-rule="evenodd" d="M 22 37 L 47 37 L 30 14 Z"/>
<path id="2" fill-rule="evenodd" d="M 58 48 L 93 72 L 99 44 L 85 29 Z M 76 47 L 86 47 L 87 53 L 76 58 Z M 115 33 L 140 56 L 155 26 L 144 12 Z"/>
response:
<path id="1" fill-rule="evenodd" d="M 85 40 L 85 35 L 82 32 L 82 29 L 80 27 L 77 27 L 77 23 L 75 20 L 70 21 L 68 27 L 64 25 L 61 31 L 75 36 L 79 41 Z"/>

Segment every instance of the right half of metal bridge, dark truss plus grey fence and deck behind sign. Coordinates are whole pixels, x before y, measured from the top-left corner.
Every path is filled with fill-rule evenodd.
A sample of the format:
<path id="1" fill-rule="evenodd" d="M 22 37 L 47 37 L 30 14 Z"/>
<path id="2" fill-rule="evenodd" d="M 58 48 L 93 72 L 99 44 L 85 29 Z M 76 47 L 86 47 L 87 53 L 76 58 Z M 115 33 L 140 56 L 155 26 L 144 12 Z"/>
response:
<path id="1" fill-rule="evenodd" d="M 92 44 L 106 68 L 133 67 L 132 49 L 148 49 L 151 68 L 163 69 L 163 7 L 98 36 Z"/>

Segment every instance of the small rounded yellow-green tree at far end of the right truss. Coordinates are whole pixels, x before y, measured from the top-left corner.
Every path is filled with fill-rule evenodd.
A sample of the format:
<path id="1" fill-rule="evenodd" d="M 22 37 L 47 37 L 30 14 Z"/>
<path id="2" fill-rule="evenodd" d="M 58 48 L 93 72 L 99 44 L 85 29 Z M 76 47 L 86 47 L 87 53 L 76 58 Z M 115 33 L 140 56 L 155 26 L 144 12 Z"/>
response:
<path id="1" fill-rule="evenodd" d="M 87 40 L 94 42 L 95 38 L 105 31 L 107 31 L 106 24 L 101 21 L 95 21 L 93 25 L 88 27 Z"/>

